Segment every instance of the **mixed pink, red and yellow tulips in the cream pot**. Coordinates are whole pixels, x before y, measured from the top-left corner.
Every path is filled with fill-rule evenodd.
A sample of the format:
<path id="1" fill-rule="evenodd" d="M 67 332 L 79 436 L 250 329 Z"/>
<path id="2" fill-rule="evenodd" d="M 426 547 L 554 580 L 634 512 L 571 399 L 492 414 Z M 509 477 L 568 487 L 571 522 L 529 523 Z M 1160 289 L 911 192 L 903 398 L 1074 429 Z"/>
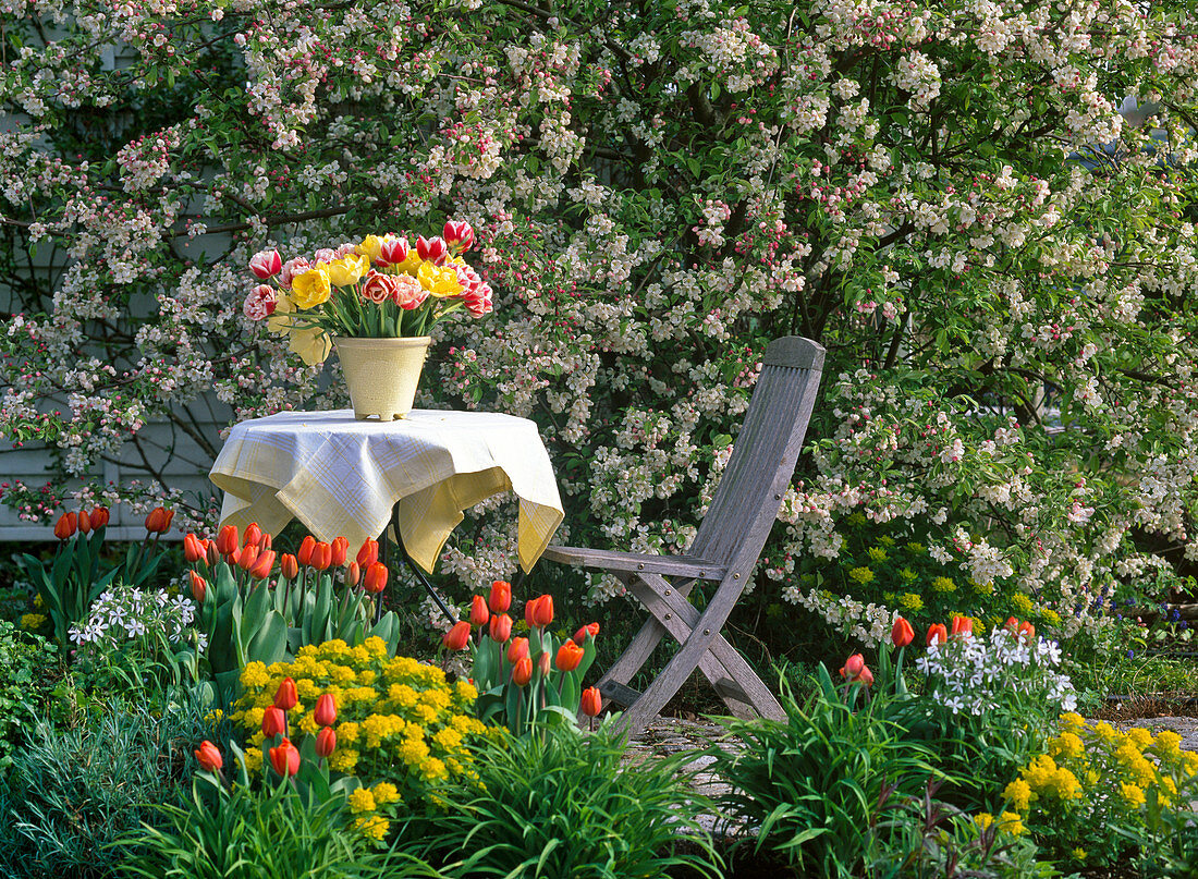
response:
<path id="1" fill-rule="evenodd" d="M 304 362 L 322 362 L 331 337 L 397 339 L 426 335 L 442 317 L 465 309 L 491 311 L 491 287 L 461 255 L 474 244 L 468 223 L 449 220 L 441 236 L 368 235 L 361 243 L 325 248 L 284 261 L 277 250 L 255 254 L 249 271 L 261 281 L 244 314 L 288 333 Z M 274 284 L 272 286 L 271 283 Z"/>

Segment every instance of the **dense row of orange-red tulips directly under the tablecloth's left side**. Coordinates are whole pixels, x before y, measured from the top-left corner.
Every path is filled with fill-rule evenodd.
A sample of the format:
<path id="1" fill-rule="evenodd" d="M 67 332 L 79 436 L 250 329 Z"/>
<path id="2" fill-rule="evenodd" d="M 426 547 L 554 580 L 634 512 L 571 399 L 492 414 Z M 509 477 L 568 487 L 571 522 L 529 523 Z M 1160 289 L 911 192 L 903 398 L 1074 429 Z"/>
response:
<path id="1" fill-rule="evenodd" d="M 387 587 L 379 544 L 367 540 L 352 560 L 347 552 L 345 538 L 327 544 L 308 535 L 298 553 L 280 556 L 256 523 L 243 535 L 230 525 L 216 540 L 183 538 L 196 624 L 206 638 L 193 656 L 193 674 L 200 680 L 206 666 L 217 704 L 232 702 L 247 662 L 290 660 L 305 644 L 361 644 L 377 636 L 394 653 L 399 619 L 380 614 L 374 600 Z"/>

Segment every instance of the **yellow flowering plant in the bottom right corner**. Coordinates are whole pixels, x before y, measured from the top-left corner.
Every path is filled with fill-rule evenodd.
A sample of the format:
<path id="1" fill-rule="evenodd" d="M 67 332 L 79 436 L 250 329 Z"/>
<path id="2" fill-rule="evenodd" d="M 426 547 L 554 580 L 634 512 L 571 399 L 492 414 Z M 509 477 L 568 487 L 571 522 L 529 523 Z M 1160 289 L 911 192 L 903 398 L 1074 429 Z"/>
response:
<path id="1" fill-rule="evenodd" d="M 1067 860 L 1094 866 L 1132 856 L 1167 866 L 1158 859 L 1193 820 L 1198 798 L 1198 753 L 1180 742 L 1168 729 L 1121 733 L 1064 714 L 1046 751 L 1006 786 L 1005 808 Z"/>

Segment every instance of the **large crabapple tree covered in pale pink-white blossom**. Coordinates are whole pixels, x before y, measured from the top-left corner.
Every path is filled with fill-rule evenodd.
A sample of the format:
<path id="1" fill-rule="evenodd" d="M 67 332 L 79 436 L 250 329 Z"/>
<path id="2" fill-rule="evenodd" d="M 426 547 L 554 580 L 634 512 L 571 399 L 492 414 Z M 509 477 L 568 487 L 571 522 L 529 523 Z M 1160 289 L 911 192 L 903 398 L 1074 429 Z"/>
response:
<path id="1" fill-rule="evenodd" d="M 573 539 L 685 547 L 797 333 L 828 365 L 758 594 L 882 637 L 857 516 L 962 612 L 1094 629 L 1198 556 L 1185 6 L 6 0 L 0 424 L 86 474 L 151 418 L 216 444 L 213 388 L 337 404 L 248 261 L 460 218 L 496 308 L 424 404 L 536 418 Z M 446 568 L 512 570 L 514 523 Z"/>

